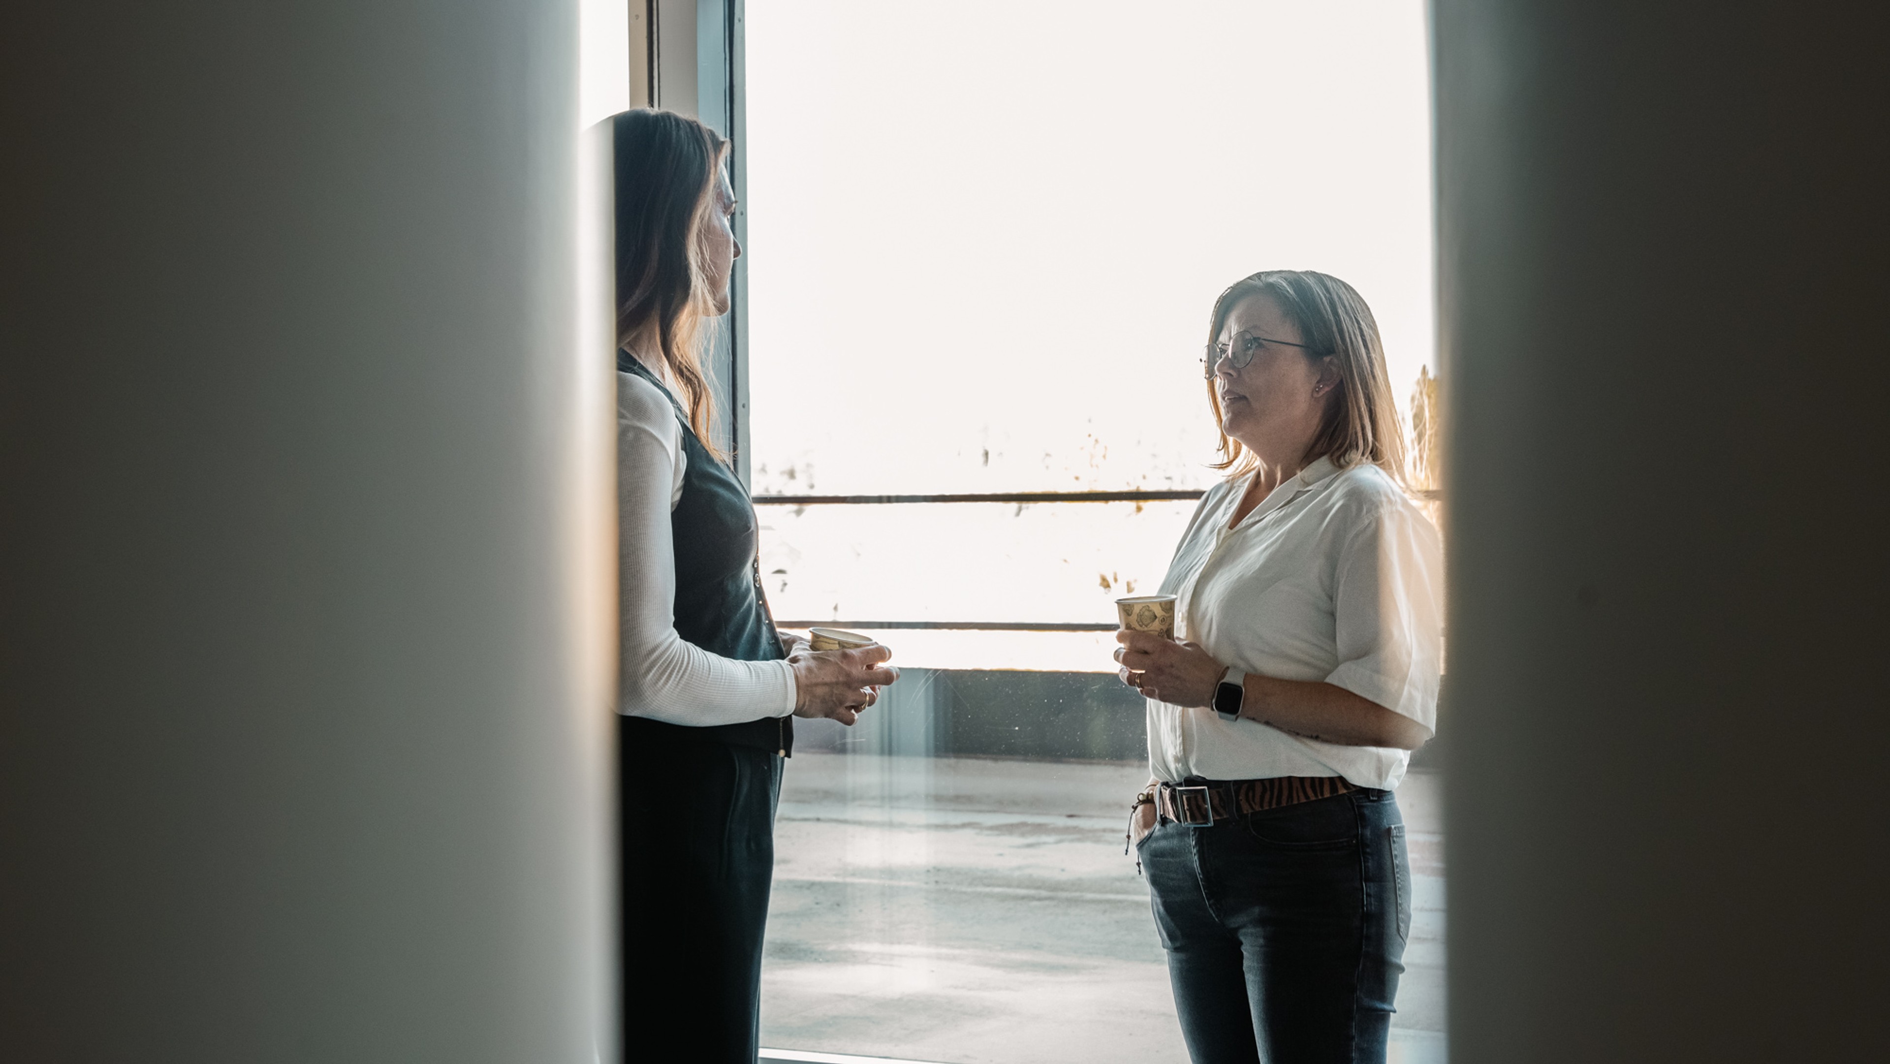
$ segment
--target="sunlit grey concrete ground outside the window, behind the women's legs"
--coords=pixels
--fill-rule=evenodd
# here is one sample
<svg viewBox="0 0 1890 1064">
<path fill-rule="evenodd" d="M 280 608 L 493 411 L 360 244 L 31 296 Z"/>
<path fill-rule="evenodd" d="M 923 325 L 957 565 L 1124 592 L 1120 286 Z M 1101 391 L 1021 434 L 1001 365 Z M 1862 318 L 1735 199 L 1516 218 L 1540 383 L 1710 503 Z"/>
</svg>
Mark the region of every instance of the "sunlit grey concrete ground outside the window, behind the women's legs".
<svg viewBox="0 0 1890 1064">
<path fill-rule="evenodd" d="M 796 754 L 762 1045 L 949 1064 L 1185 1064 L 1143 881 L 1142 764 Z M 1412 941 L 1393 1064 L 1444 1060 L 1436 777 L 1399 788 Z"/>
</svg>

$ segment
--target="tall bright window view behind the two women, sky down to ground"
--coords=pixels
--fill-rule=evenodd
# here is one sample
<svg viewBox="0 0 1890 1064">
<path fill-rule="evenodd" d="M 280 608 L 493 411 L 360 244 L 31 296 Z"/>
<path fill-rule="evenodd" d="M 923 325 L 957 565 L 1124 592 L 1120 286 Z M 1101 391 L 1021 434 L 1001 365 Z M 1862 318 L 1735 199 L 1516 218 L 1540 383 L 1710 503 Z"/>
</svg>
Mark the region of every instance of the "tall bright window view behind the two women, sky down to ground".
<svg viewBox="0 0 1890 1064">
<path fill-rule="evenodd" d="M 1123 856 L 1147 762 L 1111 603 L 1219 476 L 1223 287 L 1346 278 L 1399 391 L 1429 376 L 1423 4 L 750 2 L 745 76 L 767 592 L 905 667 L 786 773 L 762 1043 L 1185 1060 Z M 1400 788 L 1393 1060 L 1442 1058 L 1433 796 Z"/>
</svg>

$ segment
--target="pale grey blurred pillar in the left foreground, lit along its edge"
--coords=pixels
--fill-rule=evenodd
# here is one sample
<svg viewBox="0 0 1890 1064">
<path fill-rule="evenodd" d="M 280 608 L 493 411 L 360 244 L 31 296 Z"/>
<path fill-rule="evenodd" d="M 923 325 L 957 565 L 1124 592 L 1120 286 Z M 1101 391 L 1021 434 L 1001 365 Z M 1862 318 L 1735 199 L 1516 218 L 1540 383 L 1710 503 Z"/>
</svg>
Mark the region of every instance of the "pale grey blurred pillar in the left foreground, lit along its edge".
<svg viewBox="0 0 1890 1064">
<path fill-rule="evenodd" d="M 571 0 L 8 15 L 0 1058 L 616 1056 L 575 57 Z"/>
</svg>

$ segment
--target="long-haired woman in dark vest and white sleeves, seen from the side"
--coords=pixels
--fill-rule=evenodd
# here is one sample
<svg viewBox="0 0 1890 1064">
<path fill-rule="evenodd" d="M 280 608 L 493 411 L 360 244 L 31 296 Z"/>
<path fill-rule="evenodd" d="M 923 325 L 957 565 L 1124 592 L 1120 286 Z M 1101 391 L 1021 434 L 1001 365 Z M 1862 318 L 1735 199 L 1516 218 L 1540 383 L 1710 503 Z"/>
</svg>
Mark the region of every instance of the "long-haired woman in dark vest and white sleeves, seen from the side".
<svg viewBox="0 0 1890 1064">
<path fill-rule="evenodd" d="M 792 716 L 852 724 L 898 673 L 885 646 L 813 652 L 767 612 L 701 369 L 741 255 L 728 142 L 654 110 L 614 115 L 610 142 L 624 1039 L 752 1064 Z"/>
</svg>

